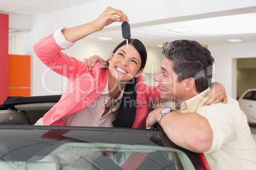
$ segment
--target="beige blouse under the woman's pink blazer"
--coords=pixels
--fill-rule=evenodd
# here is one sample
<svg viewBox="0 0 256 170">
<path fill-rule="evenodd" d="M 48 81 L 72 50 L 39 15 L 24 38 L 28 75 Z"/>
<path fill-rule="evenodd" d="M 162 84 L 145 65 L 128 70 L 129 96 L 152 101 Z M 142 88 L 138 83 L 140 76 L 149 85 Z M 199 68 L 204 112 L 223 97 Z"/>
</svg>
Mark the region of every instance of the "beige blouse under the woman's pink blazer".
<svg viewBox="0 0 256 170">
<path fill-rule="evenodd" d="M 114 101 L 122 99 L 124 94 L 124 88 L 121 90 L 117 99 Z M 117 105 L 114 104 L 110 108 L 110 111 L 103 115 L 106 103 L 110 100 L 108 91 L 108 80 L 106 86 L 101 93 L 101 96 L 97 100 L 92 101 L 90 105 L 75 114 L 66 117 L 66 126 L 102 126 L 102 127 L 113 127 L 112 122 L 115 121 L 117 110 Z M 84 102 L 89 102 L 89 100 L 84 99 Z M 115 113 L 115 114 L 114 114 Z"/>
</svg>

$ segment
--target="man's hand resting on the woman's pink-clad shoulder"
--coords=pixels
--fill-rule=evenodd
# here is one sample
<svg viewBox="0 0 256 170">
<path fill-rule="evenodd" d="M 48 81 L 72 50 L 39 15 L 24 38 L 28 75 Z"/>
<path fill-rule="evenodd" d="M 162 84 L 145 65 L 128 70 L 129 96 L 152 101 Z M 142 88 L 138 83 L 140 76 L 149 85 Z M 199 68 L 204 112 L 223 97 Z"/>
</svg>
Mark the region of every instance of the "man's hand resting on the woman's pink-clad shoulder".
<svg viewBox="0 0 256 170">
<path fill-rule="evenodd" d="M 85 58 L 83 59 L 83 62 L 87 65 L 88 69 L 91 71 L 92 68 L 96 63 L 99 63 L 101 65 L 101 69 L 107 69 L 108 68 L 108 62 L 103 60 L 103 58 L 94 55 L 90 56 L 89 59 Z"/>
</svg>

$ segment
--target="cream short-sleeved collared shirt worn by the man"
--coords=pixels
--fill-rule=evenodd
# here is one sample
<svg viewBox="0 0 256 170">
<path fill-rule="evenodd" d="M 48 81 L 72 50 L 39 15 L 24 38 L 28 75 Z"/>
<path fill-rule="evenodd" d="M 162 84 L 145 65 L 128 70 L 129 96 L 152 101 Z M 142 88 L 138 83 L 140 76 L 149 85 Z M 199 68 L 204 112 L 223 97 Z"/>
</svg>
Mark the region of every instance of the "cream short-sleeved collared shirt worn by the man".
<svg viewBox="0 0 256 170">
<path fill-rule="evenodd" d="M 255 142 L 238 101 L 228 96 L 227 104 L 203 107 L 209 91 L 184 101 L 177 111 L 196 112 L 210 122 L 213 144 L 204 155 L 211 169 L 256 169 Z"/>
</svg>

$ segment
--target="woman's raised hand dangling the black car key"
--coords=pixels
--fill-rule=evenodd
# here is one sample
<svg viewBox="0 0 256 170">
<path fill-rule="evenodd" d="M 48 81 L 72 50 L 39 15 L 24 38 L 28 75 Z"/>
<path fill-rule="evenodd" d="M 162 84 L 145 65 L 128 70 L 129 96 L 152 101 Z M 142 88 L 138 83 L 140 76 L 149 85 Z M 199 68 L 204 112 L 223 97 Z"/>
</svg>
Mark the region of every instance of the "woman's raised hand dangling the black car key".
<svg viewBox="0 0 256 170">
<path fill-rule="evenodd" d="M 113 22 L 129 22 L 128 17 L 121 11 L 111 8 L 110 6 L 106 8 L 99 17 L 94 20 L 94 28 L 97 31 L 103 30 L 104 27 L 110 25 Z"/>
</svg>

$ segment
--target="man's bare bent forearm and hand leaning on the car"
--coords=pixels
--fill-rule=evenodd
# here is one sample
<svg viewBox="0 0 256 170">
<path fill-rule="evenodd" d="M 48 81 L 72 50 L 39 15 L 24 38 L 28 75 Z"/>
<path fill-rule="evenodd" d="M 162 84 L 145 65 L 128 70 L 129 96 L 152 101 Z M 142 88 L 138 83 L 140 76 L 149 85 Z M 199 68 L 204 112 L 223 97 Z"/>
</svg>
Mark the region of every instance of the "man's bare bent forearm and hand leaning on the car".
<svg viewBox="0 0 256 170">
<path fill-rule="evenodd" d="M 147 128 L 157 123 L 162 109 L 157 108 L 148 115 Z M 213 143 L 213 131 L 208 120 L 197 113 L 173 111 L 162 117 L 160 126 L 173 143 L 192 152 L 206 152 Z"/>
</svg>

